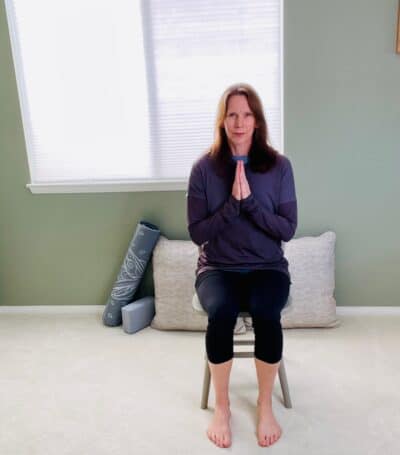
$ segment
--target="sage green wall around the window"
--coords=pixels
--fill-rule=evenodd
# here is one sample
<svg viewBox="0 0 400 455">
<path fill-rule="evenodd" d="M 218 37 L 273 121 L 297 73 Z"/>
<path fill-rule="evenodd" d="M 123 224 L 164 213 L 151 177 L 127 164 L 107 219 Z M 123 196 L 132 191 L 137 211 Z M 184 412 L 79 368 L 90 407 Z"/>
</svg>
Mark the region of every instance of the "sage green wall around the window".
<svg viewBox="0 0 400 455">
<path fill-rule="evenodd" d="M 338 305 L 398 305 L 397 0 L 285 0 L 296 237 L 337 234 Z M 267 106 L 266 106 L 267 107 Z M 212 127 L 212 125 L 210 125 Z M 103 304 L 140 219 L 187 239 L 185 192 L 33 195 L 0 2 L 0 304 Z M 139 296 L 152 291 L 148 269 Z"/>
</svg>

